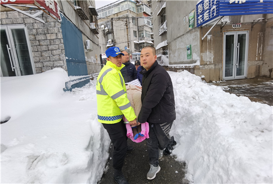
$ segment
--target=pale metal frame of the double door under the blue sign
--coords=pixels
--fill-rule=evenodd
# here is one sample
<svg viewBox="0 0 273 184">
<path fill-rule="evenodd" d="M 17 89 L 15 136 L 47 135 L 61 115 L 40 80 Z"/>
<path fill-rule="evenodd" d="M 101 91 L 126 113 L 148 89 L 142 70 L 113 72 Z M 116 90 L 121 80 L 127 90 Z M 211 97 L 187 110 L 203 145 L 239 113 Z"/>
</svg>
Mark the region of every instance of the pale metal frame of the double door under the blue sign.
<svg viewBox="0 0 273 184">
<path fill-rule="evenodd" d="M 238 61 L 238 34 L 246 34 L 246 47 L 245 47 L 245 68 L 244 68 L 244 75 L 236 76 L 236 62 Z M 232 69 L 232 76 L 225 77 L 225 44 L 226 44 L 226 35 L 234 35 L 233 41 L 233 69 Z M 249 31 L 228 31 L 224 32 L 224 40 L 223 40 L 223 80 L 234 80 L 234 79 L 242 79 L 247 77 L 247 63 L 248 63 L 248 38 L 249 38 Z M 235 46 L 235 47 L 234 47 Z"/>
</svg>

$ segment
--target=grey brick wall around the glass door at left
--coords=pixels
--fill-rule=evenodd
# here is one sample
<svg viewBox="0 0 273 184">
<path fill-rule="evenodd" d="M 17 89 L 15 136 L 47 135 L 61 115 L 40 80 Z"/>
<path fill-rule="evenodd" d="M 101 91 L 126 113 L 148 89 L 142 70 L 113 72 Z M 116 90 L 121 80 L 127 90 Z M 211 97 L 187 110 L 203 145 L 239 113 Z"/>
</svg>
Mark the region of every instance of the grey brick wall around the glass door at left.
<svg viewBox="0 0 273 184">
<path fill-rule="evenodd" d="M 38 11 L 26 11 L 35 14 Z M 67 71 L 65 47 L 61 23 L 46 14 L 38 17 L 45 23 L 39 22 L 17 11 L 1 12 L 1 25 L 25 24 L 31 45 L 36 73 L 62 67 Z"/>
</svg>

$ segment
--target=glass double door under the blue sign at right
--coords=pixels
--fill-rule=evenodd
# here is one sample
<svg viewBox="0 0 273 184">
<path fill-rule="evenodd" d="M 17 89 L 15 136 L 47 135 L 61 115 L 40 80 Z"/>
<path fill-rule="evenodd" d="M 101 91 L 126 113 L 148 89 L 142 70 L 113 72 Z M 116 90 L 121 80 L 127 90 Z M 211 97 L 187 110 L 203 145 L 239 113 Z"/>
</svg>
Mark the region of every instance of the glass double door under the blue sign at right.
<svg viewBox="0 0 273 184">
<path fill-rule="evenodd" d="M 223 79 L 246 78 L 248 31 L 224 33 Z"/>
</svg>

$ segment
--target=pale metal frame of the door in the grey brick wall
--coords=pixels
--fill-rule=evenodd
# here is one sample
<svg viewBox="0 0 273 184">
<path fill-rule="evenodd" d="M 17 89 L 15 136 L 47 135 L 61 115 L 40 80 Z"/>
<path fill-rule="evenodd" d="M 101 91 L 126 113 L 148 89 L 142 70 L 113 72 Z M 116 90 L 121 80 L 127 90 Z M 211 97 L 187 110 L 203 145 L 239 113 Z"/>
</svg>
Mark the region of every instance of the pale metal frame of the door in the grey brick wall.
<svg viewBox="0 0 273 184">
<path fill-rule="evenodd" d="M 24 24 L 0 25 L 0 29 L 5 29 L 5 31 L 6 31 L 7 40 L 8 40 L 8 44 L 9 44 L 8 47 L 10 48 L 10 50 L 9 50 L 10 57 L 11 57 L 10 59 L 12 60 L 13 67 L 15 69 L 15 74 L 16 74 L 16 76 L 21 76 L 20 67 L 19 67 L 20 65 L 17 60 L 17 55 L 16 55 L 16 51 L 15 51 L 15 47 L 14 47 L 14 41 L 13 41 L 11 29 L 18 29 L 18 28 L 24 28 L 28 52 L 29 52 L 30 63 L 32 66 L 32 71 L 33 71 L 33 74 L 36 74 L 35 65 L 34 65 L 33 56 L 32 56 L 31 45 L 30 45 L 28 31 L 27 31 L 26 26 Z M 0 76 L 2 76 L 2 69 L 0 69 Z"/>
</svg>

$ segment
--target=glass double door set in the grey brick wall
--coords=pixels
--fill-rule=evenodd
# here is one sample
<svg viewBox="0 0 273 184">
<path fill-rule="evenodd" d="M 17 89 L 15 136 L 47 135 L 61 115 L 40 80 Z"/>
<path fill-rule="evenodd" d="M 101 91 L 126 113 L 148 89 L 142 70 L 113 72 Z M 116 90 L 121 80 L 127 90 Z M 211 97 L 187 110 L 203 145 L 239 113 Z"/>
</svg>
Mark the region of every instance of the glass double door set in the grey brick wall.
<svg viewBox="0 0 273 184">
<path fill-rule="evenodd" d="M 1 76 L 35 73 L 27 29 L 24 25 L 1 26 Z"/>
</svg>

